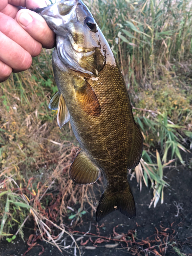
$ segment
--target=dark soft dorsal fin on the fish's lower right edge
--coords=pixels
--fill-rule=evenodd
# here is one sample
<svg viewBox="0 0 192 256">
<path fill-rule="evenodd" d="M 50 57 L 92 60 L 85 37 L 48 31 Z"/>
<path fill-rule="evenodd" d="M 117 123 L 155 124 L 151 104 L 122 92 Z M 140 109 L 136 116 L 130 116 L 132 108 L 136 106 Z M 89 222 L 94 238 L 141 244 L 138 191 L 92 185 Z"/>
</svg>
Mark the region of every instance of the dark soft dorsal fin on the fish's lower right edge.
<svg viewBox="0 0 192 256">
<path fill-rule="evenodd" d="M 133 130 L 132 147 L 128 156 L 127 168 L 133 169 L 139 164 L 142 156 L 142 152 L 143 152 L 143 136 L 137 124 L 135 123 L 135 127 Z"/>
</svg>

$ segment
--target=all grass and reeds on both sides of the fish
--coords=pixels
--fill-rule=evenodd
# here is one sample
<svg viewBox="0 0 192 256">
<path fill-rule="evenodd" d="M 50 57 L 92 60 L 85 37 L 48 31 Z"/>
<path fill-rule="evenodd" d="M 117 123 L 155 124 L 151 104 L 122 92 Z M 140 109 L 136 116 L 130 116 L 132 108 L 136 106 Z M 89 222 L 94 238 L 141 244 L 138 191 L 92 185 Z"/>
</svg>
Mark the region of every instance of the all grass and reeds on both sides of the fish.
<svg viewBox="0 0 192 256">
<path fill-rule="evenodd" d="M 169 186 L 164 168 L 186 165 L 192 147 L 191 1 L 85 2 L 117 58 L 144 137 L 141 162 L 129 172 L 140 190 L 142 180 L 153 189 L 155 207 Z M 9 242 L 24 236 L 31 219 L 55 243 L 50 228 L 67 232 L 67 221 L 83 221 L 85 205 L 93 215 L 102 190 L 101 179 L 94 186 L 69 179 L 78 142 L 70 123 L 60 130 L 57 112 L 48 108 L 57 92 L 51 55 L 42 50 L 29 70 L 0 87 L 0 238 Z"/>
</svg>

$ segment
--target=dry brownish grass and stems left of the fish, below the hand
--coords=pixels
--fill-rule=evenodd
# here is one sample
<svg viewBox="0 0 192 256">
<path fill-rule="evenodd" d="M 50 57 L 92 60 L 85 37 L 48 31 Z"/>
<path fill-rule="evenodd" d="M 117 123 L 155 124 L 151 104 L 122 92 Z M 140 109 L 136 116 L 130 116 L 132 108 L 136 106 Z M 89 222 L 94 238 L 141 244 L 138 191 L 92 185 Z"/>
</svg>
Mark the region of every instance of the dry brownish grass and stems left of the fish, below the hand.
<svg viewBox="0 0 192 256">
<path fill-rule="evenodd" d="M 42 67 L 36 69 L 38 62 Z M 44 66 L 52 71 L 51 55 L 45 51 L 31 70 L 1 84 L 0 237 L 11 235 L 17 226 L 22 234 L 21 226 L 29 215 L 37 225 L 37 220 L 46 218 L 63 228 L 65 218 L 74 214 L 73 205 L 79 207 L 71 218 L 73 224 L 81 219 L 86 202 L 92 216 L 96 210 L 93 186 L 78 186 L 69 178 L 78 142 L 70 124 L 60 130 L 56 112 L 48 109 L 55 86 Z"/>
</svg>

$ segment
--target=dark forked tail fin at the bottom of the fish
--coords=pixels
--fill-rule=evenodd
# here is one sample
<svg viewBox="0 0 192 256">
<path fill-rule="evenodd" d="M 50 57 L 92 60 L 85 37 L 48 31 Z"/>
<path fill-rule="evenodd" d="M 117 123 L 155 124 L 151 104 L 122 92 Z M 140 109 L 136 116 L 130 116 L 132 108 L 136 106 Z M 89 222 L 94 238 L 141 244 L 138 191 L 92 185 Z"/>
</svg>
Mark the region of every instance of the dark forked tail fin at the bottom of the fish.
<svg viewBox="0 0 192 256">
<path fill-rule="evenodd" d="M 114 210 L 119 210 L 123 215 L 133 219 L 136 216 L 135 201 L 129 183 L 123 191 L 111 193 L 109 188 L 103 191 L 96 212 L 96 221 L 99 222 Z"/>
</svg>

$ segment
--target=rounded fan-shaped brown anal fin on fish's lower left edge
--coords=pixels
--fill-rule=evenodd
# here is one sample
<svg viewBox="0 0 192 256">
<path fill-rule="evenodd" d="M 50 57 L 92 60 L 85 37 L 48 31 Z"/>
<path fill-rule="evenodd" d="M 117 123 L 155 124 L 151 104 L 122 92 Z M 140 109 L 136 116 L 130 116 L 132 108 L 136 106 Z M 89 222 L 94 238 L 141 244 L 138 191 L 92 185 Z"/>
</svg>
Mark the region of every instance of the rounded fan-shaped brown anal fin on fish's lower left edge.
<svg viewBox="0 0 192 256">
<path fill-rule="evenodd" d="M 76 184 L 93 184 L 100 177 L 100 170 L 80 149 L 70 167 L 69 174 Z"/>
</svg>

